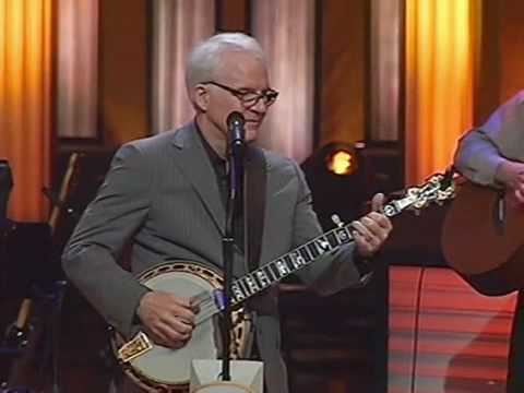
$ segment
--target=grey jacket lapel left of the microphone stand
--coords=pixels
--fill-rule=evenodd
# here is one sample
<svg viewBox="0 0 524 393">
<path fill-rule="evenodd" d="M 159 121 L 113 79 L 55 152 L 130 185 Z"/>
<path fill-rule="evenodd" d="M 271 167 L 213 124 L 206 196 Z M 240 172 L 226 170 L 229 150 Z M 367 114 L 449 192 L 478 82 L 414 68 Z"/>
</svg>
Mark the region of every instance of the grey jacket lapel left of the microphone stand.
<svg viewBox="0 0 524 393">
<path fill-rule="evenodd" d="M 215 171 L 194 123 L 187 124 L 177 131 L 171 142 L 176 147 L 176 164 L 192 184 L 218 231 L 224 234 L 226 213 L 216 183 Z"/>
</svg>

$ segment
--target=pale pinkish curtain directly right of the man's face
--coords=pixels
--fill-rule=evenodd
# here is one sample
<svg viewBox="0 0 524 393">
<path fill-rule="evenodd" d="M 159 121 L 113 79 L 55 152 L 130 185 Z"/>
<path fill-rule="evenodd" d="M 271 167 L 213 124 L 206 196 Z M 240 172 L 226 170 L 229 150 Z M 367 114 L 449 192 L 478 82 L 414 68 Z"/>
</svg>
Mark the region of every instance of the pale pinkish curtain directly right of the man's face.
<svg viewBox="0 0 524 393">
<path fill-rule="evenodd" d="M 314 1 L 254 1 L 252 26 L 269 57 L 271 84 L 281 92 L 260 143 L 301 162 L 313 147 Z"/>
</svg>

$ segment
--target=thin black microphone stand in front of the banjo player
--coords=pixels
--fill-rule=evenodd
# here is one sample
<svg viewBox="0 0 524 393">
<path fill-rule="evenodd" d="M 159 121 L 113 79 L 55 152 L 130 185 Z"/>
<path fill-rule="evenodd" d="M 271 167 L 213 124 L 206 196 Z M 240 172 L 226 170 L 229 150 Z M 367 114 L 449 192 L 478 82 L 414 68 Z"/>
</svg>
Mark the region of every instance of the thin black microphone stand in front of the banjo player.
<svg viewBox="0 0 524 393">
<path fill-rule="evenodd" d="M 226 201 L 226 225 L 223 238 L 224 258 L 224 311 L 223 311 L 223 358 L 222 380 L 230 381 L 230 342 L 231 342 L 231 284 L 233 284 L 233 257 L 235 243 L 235 217 L 238 214 L 240 190 L 243 187 L 243 143 L 234 143 L 228 148 L 228 183 L 229 195 Z"/>
</svg>

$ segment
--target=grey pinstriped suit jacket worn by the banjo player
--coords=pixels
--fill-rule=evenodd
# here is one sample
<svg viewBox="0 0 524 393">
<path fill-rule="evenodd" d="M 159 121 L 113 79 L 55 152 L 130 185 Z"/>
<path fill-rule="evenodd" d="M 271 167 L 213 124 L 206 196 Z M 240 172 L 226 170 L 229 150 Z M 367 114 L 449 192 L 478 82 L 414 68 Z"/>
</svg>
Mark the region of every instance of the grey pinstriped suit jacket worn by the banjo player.
<svg viewBox="0 0 524 393">
<path fill-rule="evenodd" d="M 320 235 L 311 195 L 298 165 L 264 152 L 267 165 L 266 212 L 261 262 L 269 262 Z M 123 145 L 106 180 L 85 210 L 62 255 L 74 285 L 107 322 L 126 336 L 146 288 L 133 275 L 174 259 L 222 266 L 225 212 L 215 174 L 193 123 Z M 118 261 L 132 241 L 132 272 Z M 353 245 L 323 257 L 300 272 L 322 294 L 359 282 Z M 245 272 L 235 253 L 235 274 Z M 267 314 L 257 319 L 257 343 L 270 393 L 287 392 L 279 353 L 277 291 L 270 291 Z"/>
</svg>

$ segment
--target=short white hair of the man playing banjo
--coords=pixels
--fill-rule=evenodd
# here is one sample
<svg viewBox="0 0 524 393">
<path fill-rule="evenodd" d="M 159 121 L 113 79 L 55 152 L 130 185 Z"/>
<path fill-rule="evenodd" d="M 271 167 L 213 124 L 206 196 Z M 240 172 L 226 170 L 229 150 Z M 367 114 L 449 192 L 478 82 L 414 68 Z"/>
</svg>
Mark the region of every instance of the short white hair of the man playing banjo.
<svg viewBox="0 0 524 393">
<path fill-rule="evenodd" d="M 191 91 L 194 85 L 212 81 L 228 51 L 249 51 L 265 62 L 265 55 L 253 37 L 243 33 L 221 33 L 196 45 L 186 64 L 186 86 Z"/>
</svg>

